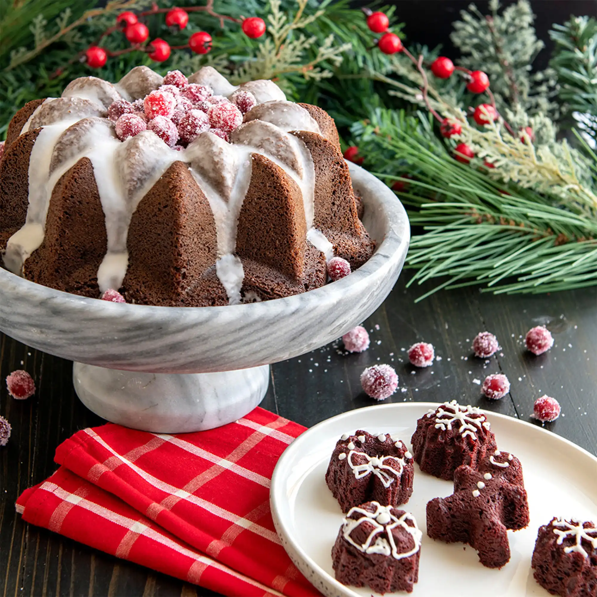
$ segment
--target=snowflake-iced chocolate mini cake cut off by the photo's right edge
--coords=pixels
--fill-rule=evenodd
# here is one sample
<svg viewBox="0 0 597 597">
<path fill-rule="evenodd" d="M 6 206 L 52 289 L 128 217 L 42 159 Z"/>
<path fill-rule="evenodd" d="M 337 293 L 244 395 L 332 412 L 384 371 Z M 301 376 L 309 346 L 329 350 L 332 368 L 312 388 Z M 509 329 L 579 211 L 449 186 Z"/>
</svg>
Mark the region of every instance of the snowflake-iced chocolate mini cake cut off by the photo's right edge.
<svg viewBox="0 0 597 597">
<path fill-rule="evenodd" d="M 553 518 L 539 527 L 533 576 L 552 595 L 597 595 L 597 528 L 575 518 Z"/>
</svg>

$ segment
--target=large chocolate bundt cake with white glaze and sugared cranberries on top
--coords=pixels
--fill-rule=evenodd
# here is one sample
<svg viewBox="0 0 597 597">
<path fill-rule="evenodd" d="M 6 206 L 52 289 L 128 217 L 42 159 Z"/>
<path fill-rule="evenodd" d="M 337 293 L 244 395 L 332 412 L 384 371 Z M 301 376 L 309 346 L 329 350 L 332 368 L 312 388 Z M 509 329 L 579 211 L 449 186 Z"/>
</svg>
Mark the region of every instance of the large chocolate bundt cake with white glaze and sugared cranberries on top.
<svg viewBox="0 0 597 597">
<path fill-rule="evenodd" d="M 235 87 L 146 66 L 27 103 L 0 160 L 0 249 L 13 273 L 129 303 L 213 306 L 303 293 L 374 241 L 333 119 L 272 81 Z"/>
</svg>

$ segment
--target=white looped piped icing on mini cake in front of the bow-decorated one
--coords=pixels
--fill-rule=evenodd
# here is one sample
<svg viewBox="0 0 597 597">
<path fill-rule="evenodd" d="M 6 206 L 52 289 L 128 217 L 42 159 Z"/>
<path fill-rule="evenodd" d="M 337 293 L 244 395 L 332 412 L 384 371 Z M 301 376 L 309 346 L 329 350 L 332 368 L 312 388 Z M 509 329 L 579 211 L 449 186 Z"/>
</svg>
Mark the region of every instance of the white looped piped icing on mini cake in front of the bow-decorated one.
<svg viewBox="0 0 597 597">
<path fill-rule="evenodd" d="M 377 501 L 372 501 L 371 503 L 376 506 L 375 512 L 369 512 L 369 510 L 365 510 L 359 506 L 355 506 L 349 510 L 344 519 L 344 538 L 363 553 L 381 553 L 384 556 L 391 555 L 394 559 L 410 558 L 410 556 L 417 553 L 421 547 L 423 533 L 417 527 L 417 521 L 414 519 L 414 516 L 405 512 L 400 518 L 397 518 L 391 512 L 392 506 L 381 506 Z M 350 518 L 350 515 L 355 512 L 363 516 L 358 519 Z M 350 533 L 364 521 L 373 525 L 373 531 L 371 531 L 365 543 L 356 543 L 350 537 Z M 411 521 L 414 527 L 411 527 L 406 521 Z M 396 527 L 402 527 L 410 533 L 414 542 L 413 549 L 404 553 L 398 552 L 392 535 L 392 530 Z M 375 542 L 373 543 L 374 539 Z"/>
</svg>

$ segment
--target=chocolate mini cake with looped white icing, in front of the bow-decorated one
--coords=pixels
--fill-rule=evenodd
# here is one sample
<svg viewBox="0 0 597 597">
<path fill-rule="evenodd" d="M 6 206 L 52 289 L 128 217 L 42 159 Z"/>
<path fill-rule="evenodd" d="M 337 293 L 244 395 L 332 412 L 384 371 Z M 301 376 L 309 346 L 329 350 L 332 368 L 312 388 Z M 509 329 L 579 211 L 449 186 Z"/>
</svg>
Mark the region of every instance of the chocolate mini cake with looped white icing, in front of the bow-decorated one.
<svg viewBox="0 0 597 597">
<path fill-rule="evenodd" d="M 349 510 L 332 548 L 336 580 L 378 593 L 413 591 L 422 533 L 414 516 L 369 501 Z"/>
</svg>

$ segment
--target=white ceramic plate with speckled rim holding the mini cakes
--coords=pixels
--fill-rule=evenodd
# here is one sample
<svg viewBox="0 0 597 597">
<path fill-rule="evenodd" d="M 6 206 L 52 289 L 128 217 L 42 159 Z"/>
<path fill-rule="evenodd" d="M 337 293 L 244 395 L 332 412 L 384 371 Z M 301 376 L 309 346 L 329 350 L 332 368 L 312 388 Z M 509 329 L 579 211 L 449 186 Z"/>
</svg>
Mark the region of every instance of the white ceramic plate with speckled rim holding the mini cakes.
<svg viewBox="0 0 597 597">
<path fill-rule="evenodd" d="M 324 478 L 334 445 L 343 433 L 365 429 L 371 433 L 397 433 L 410 447 L 417 419 L 436 407 L 431 402 L 411 402 L 340 414 L 304 432 L 276 464 L 270 493 L 276 530 L 300 571 L 325 595 L 371 595 L 367 587 L 344 586 L 334 578 L 331 549 L 343 514 Z M 498 447 L 521 460 L 531 522 L 521 531 L 508 532 L 510 562 L 501 570 L 485 568 L 472 547 L 427 537 L 427 501 L 449 496 L 453 483 L 422 473 L 415 464 L 413 496 L 404 509 L 416 517 L 423 543 L 419 580 L 411 595 L 547 596 L 549 593 L 534 581 L 531 570 L 538 528 L 556 515 L 597 521 L 597 458 L 536 425 L 494 413 L 487 413 L 487 417 Z"/>
</svg>

